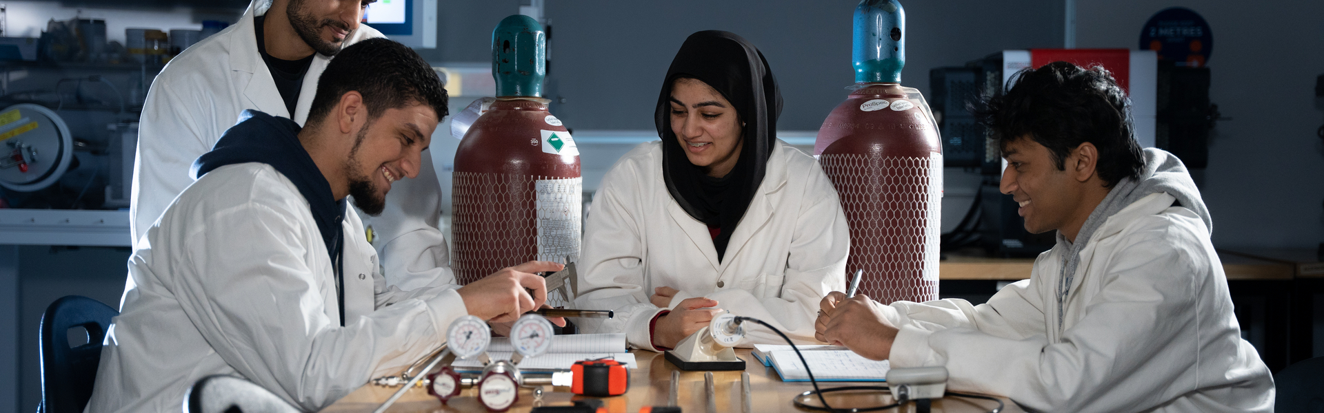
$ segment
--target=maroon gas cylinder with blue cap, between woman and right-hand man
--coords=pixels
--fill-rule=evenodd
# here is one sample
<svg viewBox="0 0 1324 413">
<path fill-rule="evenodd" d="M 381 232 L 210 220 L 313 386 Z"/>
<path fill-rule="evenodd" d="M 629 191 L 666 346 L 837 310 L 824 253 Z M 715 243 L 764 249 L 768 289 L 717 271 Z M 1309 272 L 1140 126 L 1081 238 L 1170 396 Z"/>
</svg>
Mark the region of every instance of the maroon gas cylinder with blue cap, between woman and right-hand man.
<svg viewBox="0 0 1324 413">
<path fill-rule="evenodd" d="M 814 155 L 850 226 L 847 274 L 882 303 L 937 299 L 943 147 L 928 103 L 900 85 L 906 12 L 896 0 L 855 8 L 855 85 L 828 115 Z"/>
</svg>

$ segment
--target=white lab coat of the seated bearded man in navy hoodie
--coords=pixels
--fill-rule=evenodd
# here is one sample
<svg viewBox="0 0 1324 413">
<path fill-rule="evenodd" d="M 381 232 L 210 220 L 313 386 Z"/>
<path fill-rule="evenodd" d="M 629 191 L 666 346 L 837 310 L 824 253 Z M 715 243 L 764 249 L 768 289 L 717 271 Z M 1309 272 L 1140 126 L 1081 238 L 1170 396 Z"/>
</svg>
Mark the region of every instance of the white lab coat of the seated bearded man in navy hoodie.
<svg viewBox="0 0 1324 413">
<path fill-rule="evenodd" d="M 346 322 L 307 200 L 261 163 L 199 179 L 128 262 L 86 412 L 179 412 L 209 375 L 238 375 L 305 410 L 396 375 L 467 314 L 448 287 L 387 286 L 355 213 L 344 217 Z"/>
</svg>

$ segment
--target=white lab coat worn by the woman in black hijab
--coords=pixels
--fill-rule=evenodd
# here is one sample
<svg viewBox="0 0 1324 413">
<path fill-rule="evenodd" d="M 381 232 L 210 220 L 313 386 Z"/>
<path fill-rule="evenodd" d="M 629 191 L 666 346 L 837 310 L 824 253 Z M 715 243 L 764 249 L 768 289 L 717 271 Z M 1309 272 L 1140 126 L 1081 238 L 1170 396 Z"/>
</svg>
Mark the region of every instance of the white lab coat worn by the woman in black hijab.
<svg viewBox="0 0 1324 413">
<path fill-rule="evenodd" d="M 662 310 L 653 287 L 681 290 L 669 307 L 694 297 L 736 315 L 814 340 L 818 302 L 846 285 L 850 232 L 837 191 L 818 161 L 777 140 L 767 175 L 741 217 L 724 259 L 708 226 L 671 199 L 662 180 L 662 143 L 625 154 L 593 197 L 579 267 L 579 308 L 614 310 L 613 319 L 577 319 L 587 332 L 626 332 L 636 348 L 653 347 L 649 324 Z M 744 345 L 785 344 L 763 327 Z"/>
</svg>

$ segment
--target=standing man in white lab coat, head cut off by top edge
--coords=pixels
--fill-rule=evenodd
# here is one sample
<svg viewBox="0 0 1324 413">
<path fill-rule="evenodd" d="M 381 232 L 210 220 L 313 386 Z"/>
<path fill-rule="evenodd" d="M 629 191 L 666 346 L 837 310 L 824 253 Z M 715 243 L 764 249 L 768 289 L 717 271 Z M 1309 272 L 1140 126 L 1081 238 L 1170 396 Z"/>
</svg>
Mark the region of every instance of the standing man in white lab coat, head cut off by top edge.
<svg viewBox="0 0 1324 413">
<path fill-rule="evenodd" d="M 238 23 L 171 60 L 152 82 L 139 122 L 130 220 L 134 241 L 193 183 L 189 165 L 245 110 L 305 124 L 316 81 L 342 48 L 380 32 L 361 25 L 376 0 L 253 0 Z M 387 283 L 405 290 L 454 283 L 437 228 L 441 188 L 424 151 L 418 179 L 395 184 L 376 234 Z M 361 237 L 361 236 L 360 236 Z"/>
</svg>

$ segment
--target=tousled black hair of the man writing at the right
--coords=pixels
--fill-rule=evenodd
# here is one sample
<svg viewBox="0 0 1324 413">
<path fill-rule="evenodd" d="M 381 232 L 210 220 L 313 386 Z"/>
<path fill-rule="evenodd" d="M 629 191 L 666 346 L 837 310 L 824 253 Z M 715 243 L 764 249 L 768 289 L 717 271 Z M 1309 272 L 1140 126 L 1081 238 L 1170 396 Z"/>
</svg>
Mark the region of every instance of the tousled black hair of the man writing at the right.
<svg viewBox="0 0 1324 413">
<path fill-rule="evenodd" d="M 1095 172 L 1106 187 L 1140 176 L 1144 161 L 1133 136 L 1131 101 L 1112 73 L 1058 61 L 1023 69 L 1013 81 L 1006 94 L 985 97 L 974 109 L 1000 148 L 1030 136 L 1049 148 L 1062 171 L 1071 150 L 1088 142 L 1099 148 Z"/>
</svg>

